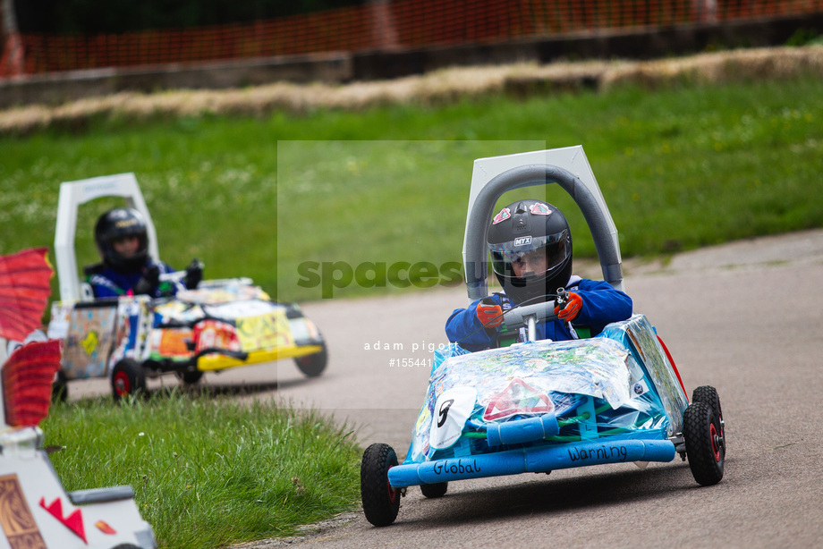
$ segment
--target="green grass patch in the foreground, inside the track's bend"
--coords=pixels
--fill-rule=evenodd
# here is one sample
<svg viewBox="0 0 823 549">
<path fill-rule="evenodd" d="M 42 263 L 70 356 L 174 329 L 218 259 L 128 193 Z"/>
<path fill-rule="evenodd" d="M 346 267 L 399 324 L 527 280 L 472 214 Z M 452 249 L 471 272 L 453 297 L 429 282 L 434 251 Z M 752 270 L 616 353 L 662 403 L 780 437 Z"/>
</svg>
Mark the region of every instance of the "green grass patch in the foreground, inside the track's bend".
<svg viewBox="0 0 823 549">
<path fill-rule="evenodd" d="M 160 547 L 287 536 L 360 499 L 351 433 L 306 410 L 172 393 L 59 405 L 41 427 L 66 489 L 132 486 Z"/>
</svg>

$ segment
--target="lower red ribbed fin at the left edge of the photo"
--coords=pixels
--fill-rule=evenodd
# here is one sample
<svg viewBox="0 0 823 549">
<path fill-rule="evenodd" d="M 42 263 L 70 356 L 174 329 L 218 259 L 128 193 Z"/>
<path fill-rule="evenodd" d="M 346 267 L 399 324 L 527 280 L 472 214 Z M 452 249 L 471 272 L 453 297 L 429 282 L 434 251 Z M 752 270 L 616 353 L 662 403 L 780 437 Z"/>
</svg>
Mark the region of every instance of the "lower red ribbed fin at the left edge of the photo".
<svg viewBox="0 0 823 549">
<path fill-rule="evenodd" d="M 34 427 L 48 414 L 52 382 L 60 369 L 63 342 L 30 342 L 19 347 L 3 365 L 5 422 Z"/>
</svg>

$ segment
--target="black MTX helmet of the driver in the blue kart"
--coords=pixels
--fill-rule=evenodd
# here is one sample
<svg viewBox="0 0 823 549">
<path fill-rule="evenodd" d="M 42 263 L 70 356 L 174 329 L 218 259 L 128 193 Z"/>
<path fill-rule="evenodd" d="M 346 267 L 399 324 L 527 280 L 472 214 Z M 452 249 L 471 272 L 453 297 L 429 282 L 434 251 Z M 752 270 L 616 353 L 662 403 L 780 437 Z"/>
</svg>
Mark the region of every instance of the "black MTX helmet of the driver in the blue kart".
<svg viewBox="0 0 823 549">
<path fill-rule="evenodd" d="M 563 212 L 541 200 L 521 200 L 495 215 L 486 235 L 491 265 L 515 303 L 554 294 L 572 275 L 572 232 Z M 513 262 L 545 252 L 546 270 L 517 276 Z"/>
</svg>

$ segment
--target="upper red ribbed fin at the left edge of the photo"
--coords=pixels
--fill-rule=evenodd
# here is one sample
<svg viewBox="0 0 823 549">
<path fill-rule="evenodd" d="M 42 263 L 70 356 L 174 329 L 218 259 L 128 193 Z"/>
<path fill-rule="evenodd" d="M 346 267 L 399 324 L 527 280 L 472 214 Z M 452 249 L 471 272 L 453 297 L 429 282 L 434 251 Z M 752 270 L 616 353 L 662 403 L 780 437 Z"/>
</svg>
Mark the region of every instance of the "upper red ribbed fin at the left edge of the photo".
<svg viewBox="0 0 823 549">
<path fill-rule="evenodd" d="M 0 337 L 21 342 L 40 326 L 52 268 L 46 248 L 0 256 Z"/>
</svg>

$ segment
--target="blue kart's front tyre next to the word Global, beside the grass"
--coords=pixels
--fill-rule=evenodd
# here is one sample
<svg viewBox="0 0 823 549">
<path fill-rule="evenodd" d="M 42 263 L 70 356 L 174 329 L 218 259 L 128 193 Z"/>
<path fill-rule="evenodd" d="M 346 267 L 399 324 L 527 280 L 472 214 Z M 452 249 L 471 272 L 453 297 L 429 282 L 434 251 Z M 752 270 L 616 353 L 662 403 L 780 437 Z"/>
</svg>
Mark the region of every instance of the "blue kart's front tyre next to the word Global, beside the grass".
<svg viewBox="0 0 823 549">
<path fill-rule="evenodd" d="M 374 443 L 363 452 L 361 499 L 366 519 L 374 526 L 388 526 L 400 510 L 400 490 L 388 483 L 388 469 L 397 465 L 395 451 L 388 444 Z"/>
</svg>

